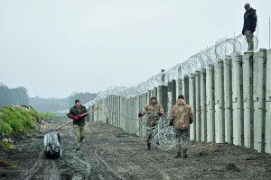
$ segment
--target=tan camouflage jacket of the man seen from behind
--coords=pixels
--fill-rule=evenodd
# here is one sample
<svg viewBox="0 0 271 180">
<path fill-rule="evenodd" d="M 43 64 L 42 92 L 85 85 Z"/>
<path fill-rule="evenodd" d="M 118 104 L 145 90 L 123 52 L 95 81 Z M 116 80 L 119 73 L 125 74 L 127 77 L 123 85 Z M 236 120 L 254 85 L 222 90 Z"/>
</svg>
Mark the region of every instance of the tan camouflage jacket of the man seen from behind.
<svg viewBox="0 0 271 180">
<path fill-rule="evenodd" d="M 193 113 L 191 107 L 183 99 L 177 100 L 170 112 L 170 123 L 175 129 L 185 130 L 193 122 Z"/>
</svg>

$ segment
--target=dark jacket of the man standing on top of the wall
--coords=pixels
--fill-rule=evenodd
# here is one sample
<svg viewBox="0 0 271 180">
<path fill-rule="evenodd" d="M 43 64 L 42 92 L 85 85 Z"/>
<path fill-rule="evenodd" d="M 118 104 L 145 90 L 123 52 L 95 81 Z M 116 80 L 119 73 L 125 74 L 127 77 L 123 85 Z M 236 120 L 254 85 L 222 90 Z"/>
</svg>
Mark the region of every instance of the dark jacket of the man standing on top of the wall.
<svg viewBox="0 0 271 180">
<path fill-rule="evenodd" d="M 254 32 L 257 25 L 257 14 L 256 10 L 250 8 L 245 14 L 244 14 L 244 26 L 243 31 L 252 31 Z"/>
</svg>

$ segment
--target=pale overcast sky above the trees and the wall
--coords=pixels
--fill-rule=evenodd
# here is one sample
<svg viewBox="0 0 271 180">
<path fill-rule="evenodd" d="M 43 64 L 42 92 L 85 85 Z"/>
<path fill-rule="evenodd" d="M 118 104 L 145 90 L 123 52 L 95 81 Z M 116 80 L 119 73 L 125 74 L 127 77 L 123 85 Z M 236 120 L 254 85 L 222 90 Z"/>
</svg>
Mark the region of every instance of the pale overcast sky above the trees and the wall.
<svg viewBox="0 0 271 180">
<path fill-rule="evenodd" d="M 47 98 L 136 85 L 240 34 L 245 3 L 268 48 L 270 0 L 0 0 L 0 82 Z"/>
</svg>

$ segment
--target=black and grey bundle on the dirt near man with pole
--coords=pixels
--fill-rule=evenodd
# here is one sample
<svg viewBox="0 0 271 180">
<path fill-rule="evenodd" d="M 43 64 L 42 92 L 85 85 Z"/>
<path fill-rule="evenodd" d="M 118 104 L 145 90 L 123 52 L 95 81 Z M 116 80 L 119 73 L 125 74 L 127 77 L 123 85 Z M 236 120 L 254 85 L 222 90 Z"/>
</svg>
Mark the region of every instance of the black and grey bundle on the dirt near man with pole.
<svg viewBox="0 0 271 180">
<path fill-rule="evenodd" d="M 62 156 L 61 136 L 59 132 L 51 130 L 44 135 L 44 155 L 46 158 L 60 158 Z"/>
</svg>

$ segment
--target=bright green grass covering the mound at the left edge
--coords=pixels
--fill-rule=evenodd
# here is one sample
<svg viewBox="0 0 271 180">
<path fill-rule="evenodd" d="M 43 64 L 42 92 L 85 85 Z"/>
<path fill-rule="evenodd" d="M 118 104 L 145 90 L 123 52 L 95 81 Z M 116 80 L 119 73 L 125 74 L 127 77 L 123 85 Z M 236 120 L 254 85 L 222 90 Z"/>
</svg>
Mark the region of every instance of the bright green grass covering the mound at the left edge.
<svg viewBox="0 0 271 180">
<path fill-rule="evenodd" d="M 35 129 L 34 123 L 41 122 L 42 119 L 42 113 L 33 108 L 4 106 L 0 108 L 0 132 L 4 133 L 5 136 L 23 131 L 32 134 Z"/>
</svg>

